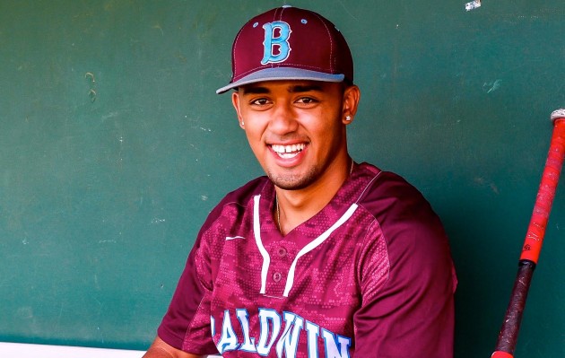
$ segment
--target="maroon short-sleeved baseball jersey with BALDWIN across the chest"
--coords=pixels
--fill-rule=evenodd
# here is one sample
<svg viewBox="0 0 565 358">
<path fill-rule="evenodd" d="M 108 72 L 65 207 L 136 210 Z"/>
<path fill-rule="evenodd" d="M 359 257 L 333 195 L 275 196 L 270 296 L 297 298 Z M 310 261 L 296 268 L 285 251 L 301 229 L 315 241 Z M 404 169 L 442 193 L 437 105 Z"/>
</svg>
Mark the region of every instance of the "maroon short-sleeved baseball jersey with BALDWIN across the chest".
<svg viewBox="0 0 565 358">
<path fill-rule="evenodd" d="M 420 192 L 363 163 L 282 236 L 265 177 L 230 193 L 188 256 L 158 335 L 225 357 L 453 357 L 456 275 Z"/>
</svg>

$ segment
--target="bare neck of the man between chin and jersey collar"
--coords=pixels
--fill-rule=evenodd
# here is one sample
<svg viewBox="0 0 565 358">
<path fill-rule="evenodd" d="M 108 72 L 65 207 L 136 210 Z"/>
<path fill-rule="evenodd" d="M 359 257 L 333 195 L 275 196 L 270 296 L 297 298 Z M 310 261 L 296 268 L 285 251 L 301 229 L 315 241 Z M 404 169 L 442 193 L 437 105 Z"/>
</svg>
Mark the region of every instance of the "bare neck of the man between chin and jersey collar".
<svg viewBox="0 0 565 358">
<path fill-rule="evenodd" d="M 330 171 L 331 175 L 326 175 L 328 178 L 322 177 L 308 188 L 285 190 L 275 187 L 274 220 L 283 235 L 319 213 L 332 200 L 351 174 L 353 160 L 349 156 L 347 159 L 340 172 Z"/>
</svg>

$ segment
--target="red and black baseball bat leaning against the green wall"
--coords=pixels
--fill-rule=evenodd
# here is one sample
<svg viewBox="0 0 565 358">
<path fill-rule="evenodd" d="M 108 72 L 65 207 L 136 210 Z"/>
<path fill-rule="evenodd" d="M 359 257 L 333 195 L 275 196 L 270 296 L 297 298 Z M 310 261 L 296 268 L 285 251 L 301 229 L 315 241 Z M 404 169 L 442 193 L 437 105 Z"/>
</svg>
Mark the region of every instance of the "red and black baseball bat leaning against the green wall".
<svg viewBox="0 0 565 358">
<path fill-rule="evenodd" d="M 518 261 L 517 277 L 510 294 L 508 309 L 491 358 L 514 358 L 517 335 L 526 306 L 527 292 L 540 256 L 545 227 L 552 210 L 553 197 L 555 197 L 555 190 L 565 157 L 565 109 L 553 111 L 551 118 L 553 122 L 552 142 L 535 198 L 534 213 L 530 219 L 526 240 Z"/>
</svg>

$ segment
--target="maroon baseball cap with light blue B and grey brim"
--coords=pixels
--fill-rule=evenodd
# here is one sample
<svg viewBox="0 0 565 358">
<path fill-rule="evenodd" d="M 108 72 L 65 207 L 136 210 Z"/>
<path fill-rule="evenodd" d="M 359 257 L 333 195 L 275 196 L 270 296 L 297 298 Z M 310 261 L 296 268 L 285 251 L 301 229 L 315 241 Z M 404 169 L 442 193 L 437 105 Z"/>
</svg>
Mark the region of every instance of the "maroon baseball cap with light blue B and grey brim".
<svg viewBox="0 0 565 358">
<path fill-rule="evenodd" d="M 249 20 L 231 49 L 231 81 L 216 93 L 274 80 L 353 82 L 342 33 L 318 13 L 285 5 Z"/>
</svg>

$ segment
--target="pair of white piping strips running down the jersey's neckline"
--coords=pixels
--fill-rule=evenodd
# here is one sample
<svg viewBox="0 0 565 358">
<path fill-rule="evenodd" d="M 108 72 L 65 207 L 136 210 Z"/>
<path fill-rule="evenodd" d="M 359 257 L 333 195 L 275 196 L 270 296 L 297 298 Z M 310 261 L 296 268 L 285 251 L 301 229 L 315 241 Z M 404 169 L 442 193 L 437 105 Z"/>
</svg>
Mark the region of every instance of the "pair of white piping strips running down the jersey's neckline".
<svg viewBox="0 0 565 358">
<path fill-rule="evenodd" d="M 269 265 L 271 264 L 271 258 L 269 257 L 269 253 L 263 246 L 263 242 L 261 241 L 261 223 L 259 220 L 259 199 L 261 198 L 260 195 L 254 196 L 254 208 L 253 208 L 253 231 L 255 233 L 255 242 L 259 252 L 263 256 L 263 266 L 261 267 L 261 291 L 259 293 L 264 294 L 266 288 L 266 277 L 267 271 L 269 270 Z M 292 261 L 291 268 L 289 269 L 289 274 L 286 279 L 286 284 L 284 286 L 284 292 L 282 293 L 283 297 L 288 297 L 289 293 L 291 292 L 292 284 L 294 284 L 294 273 L 296 272 L 296 265 L 298 263 L 299 258 L 309 253 L 311 250 L 316 249 L 319 245 L 322 244 L 329 236 L 337 230 L 340 226 L 343 225 L 347 220 L 349 220 L 357 207 L 359 205 L 352 204 L 349 209 L 336 221 L 329 229 L 327 229 L 324 233 L 318 236 L 315 240 L 309 242 L 304 248 L 300 249 L 296 258 Z"/>
</svg>

